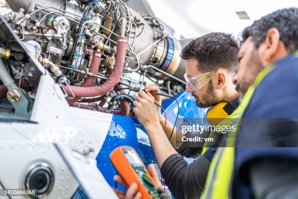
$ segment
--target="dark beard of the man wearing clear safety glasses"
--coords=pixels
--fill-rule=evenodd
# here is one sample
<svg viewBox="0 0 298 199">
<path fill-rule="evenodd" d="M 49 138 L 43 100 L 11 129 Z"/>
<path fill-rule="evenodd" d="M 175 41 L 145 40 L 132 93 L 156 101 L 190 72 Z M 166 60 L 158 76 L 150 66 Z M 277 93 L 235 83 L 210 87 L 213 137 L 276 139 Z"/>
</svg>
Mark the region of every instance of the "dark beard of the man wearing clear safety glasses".
<svg viewBox="0 0 298 199">
<path fill-rule="evenodd" d="M 208 83 L 207 92 L 204 95 L 202 95 L 202 101 L 194 93 L 192 93 L 191 95 L 198 99 L 196 100 L 196 105 L 200 108 L 206 108 L 219 102 L 218 98 L 215 96 L 212 82 Z"/>
</svg>

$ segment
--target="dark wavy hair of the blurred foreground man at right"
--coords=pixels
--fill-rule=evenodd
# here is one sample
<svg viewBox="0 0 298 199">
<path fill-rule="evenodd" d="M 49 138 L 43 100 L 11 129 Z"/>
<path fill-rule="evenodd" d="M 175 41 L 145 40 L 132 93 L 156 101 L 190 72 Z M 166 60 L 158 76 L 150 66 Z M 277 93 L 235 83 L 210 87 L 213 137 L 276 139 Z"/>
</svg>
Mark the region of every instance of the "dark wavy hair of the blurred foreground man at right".
<svg viewBox="0 0 298 199">
<path fill-rule="evenodd" d="M 298 8 L 286 8 L 270 13 L 260 20 L 255 20 L 251 26 L 246 27 L 240 40 L 244 42 L 249 36 L 259 48 L 265 40 L 267 31 L 276 28 L 279 31 L 280 40 L 289 52 L 298 48 Z"/>
</svg>

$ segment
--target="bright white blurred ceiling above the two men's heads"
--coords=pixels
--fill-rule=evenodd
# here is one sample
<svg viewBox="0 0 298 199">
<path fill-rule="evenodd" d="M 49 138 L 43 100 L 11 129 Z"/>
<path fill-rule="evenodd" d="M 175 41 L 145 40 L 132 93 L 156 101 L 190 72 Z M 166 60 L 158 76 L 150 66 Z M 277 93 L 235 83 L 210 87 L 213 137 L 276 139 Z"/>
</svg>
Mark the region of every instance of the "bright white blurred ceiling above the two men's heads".
<svg viewBox="0 0 298 199">
<path fill-rule="evenodd" d="M 148 0 L 155 16 L 184 38 L 211 31 L 237 36 L 254 20 L 280 8 L 297 7 L 298 0 Z M 241 20 L 236 12 L 245 11 L 250 20 Z"/>
</svg>

